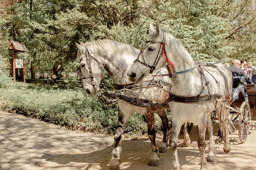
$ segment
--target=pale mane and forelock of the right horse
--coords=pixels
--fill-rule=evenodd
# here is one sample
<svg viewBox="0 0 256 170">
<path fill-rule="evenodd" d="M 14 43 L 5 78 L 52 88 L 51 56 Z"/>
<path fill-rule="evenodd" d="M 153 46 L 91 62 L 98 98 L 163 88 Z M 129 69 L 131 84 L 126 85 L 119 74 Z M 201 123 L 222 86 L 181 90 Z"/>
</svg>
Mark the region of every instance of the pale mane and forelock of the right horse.
<svg viewBox="0 0 256 170">
<path fill-rule="evenodd" d="M 170 50 L 169 52 L 172 53 L 172 57 L 181 57 L 184 64 L 194 65 L 194 60 L 182 43 L 166 30 L 161 29 L 161 31 L 166 35 L 167 45 L 170 45 L 170 49 L 166 49 L 166 51 Z M 158 41 L 156 31 L 150 33 L 149 37 L 151 37 L 152 41 Z"/>
</svg>

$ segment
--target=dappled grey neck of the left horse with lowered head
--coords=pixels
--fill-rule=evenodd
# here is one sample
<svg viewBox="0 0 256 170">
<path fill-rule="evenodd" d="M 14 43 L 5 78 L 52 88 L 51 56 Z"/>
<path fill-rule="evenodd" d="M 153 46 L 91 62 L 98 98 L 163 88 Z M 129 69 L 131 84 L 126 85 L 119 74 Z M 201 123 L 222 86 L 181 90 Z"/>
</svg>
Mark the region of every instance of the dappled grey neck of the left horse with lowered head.
<svg viewBox="0 0 256 170">
<path fill-rule="evenodd" d="M 136 56 L 126 54 L 116 47 L 112 47 L 112 49 L 95 49 L 96 53 L 98 53 L 96 56 L 100 56 L 100 61 L 104 63 L 104 68 L 112 76 L 116 84 L 132 83 L 128 76 L 126 76 L 126 73 L 132 66 Z"/>
</svg>

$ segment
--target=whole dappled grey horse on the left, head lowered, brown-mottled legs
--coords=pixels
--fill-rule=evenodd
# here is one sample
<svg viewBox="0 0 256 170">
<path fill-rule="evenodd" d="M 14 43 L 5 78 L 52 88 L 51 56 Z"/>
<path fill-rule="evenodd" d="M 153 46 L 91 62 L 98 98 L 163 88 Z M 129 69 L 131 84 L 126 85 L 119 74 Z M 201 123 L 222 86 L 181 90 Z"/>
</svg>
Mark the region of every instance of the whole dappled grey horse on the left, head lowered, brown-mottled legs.
<svg viewBox="0 0 256 170">
<path fill-rule="evenodd" d="M 167 76 L 155 76 L 144 81 L 144 86 L 134 84 L 128 80 L 126 72 L 132 66 L 134 59 L 140 52 L 134 47 L 113 40 L 96 40 L 87 43 L 76 43 L 78 48 L 78 58 L 80 59 L 81 72 L 83 76 L 83 86 L 89 96 L 94 96 L 100 88 L 100 81 L 103 72 L 106 69 L 113 77 L 116 87 L 124 88 L 134 86 L 132 90 L 126 89 L 125 95 L 141 98 L 150 101 L 163 102 L 168 98 L 170 90 L 170 79 Z M 166 68 L 160 69 L 155 74 L 168 74 Z M 154 80 L 161 80 L 154 83 Z M 151 84 L 148 84 L 151 82 Z M 154 85 L 153 85 L 154 84 Z M 115 89 L 115 90 L 120 90 Z M 159 164 L 159 152 L 166 152 L 168 143 L 168 118 L 164 108 L 133 106 L 123 100 L 118 100 L 118 125 L 114 136 L 114 145 L 112 158 L 109 163 L 110 170 L 118 170 L 120 166 L 121 136 L 124 132 L 128 119 L 134 113 L 140 113 L 145 116 L 148 125 L 148 137 L 152 143 L 152 156 L 148 164 L 157 166 Z M 164 127 L 164 137 L 159 147 L 156 147 L 156 132 L 154 125 L 154 110 L 162 119 Z M 186 128 L 184 128 L 186 130 Z M 187 132 L 184 132 L 184 145 L 190 145 L 190 138 Z"/>
</svg>

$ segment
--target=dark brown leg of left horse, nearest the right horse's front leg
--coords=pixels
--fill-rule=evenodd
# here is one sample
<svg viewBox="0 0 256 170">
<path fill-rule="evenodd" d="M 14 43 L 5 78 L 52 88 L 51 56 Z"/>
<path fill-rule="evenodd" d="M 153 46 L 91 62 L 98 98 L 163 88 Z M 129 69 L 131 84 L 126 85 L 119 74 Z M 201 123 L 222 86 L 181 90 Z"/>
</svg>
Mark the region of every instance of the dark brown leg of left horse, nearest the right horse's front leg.
<svg viewBox="0 0 256 170">
<path fill-rule="evenodd" d="M 165 109 L 159 109 L 157 111 L 159 117 L 161 118 L 162 120 L 162 124 L 163 124 L 163 127 L 164 127 L 164 137 L 163 137 L 163 141 L 162 143 L 160 144 L 160 146 L 158 147 L 158 150 L 160 153 L 163 153 L 163 152 L 166 152 L 167 151 L 167 148 L 169 147 L 169 143 L 168 143 L 168 131 L 169 131 L 169 120 L 166 116 L 166 111 Z"/>
</svg>

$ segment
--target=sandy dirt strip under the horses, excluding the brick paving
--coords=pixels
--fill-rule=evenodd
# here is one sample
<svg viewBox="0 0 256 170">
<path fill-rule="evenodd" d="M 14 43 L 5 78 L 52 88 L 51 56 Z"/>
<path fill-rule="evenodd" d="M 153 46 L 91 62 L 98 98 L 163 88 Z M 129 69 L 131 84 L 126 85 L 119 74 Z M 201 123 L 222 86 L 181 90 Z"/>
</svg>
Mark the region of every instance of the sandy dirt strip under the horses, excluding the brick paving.
<svg viewBox="0 0 256 170">
<path fill-rule="evenodd" d="M 256 121 L 252 122 L 250 135 L 246 143 L 240 143 L 238 131 L 230 135 L 231 151 L 223 152 L 223 140 L 216 139 L 218 123 L 214 123 L 214 147 L 216 148 L 216 161 L 208 162 L 208 170 L 256 170 Z M 184 147 L 182 136 L 178 140 L 178 155 L 183 170 L 198 170 L 200 168 L 200 155 L 197 147 L 198 127 L 194 125 L 190 132 L 192 144 Z M 157 135 L 158 144 L 162 136 Z M 209 139 L 206 135 L 206 153 L 208 153 Z M 148 166 L 151 144 L 148 138 L 136 141 L 124 139 L 122 142 L 121 166 L 122 170 L 171 170 L 170 149 L 166 153 L 160 153 L 160 164 L 156 167 Z M 43 164 L 36 165 L 48 167 L 46 169 L 72 169 L 83 170 L 107 170 L 112 147 L 95 150 L 90 153 L 60 155 Z M 36 168 L 34 166 L 34 168 Z M 51 167 L 51 168 L 50 168 Z"/>
</svg>

